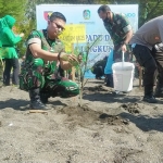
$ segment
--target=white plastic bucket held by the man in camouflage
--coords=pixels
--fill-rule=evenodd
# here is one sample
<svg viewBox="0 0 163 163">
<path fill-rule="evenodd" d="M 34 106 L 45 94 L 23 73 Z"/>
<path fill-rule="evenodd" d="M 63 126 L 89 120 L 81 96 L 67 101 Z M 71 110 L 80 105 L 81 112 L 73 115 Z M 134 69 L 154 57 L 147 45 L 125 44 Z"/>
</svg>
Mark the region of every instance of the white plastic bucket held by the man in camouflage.
<svg viewBox="0 0 163 163">
<path fill-rule="evenodd" d="M 112 65 L 114 90 L 130 91 L 133 89 L 135 65 L 130 62 L 116 62 Z"/>
</svg>

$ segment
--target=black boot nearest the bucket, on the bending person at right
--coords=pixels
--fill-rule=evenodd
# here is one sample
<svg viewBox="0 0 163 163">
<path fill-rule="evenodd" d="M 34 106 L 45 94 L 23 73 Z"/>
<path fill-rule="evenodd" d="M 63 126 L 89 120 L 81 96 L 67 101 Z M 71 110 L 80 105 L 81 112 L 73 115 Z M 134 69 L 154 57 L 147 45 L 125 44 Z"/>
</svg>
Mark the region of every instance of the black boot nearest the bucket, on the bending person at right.
<svg viewBox="0 0 163 163">
<path fill-rule="evenodd" d="M 158 100 L 153 96 L 153 86 L 145 86 L 145 97 L 142 100 L 149 103 L 158 102 Z"/>
</svg>

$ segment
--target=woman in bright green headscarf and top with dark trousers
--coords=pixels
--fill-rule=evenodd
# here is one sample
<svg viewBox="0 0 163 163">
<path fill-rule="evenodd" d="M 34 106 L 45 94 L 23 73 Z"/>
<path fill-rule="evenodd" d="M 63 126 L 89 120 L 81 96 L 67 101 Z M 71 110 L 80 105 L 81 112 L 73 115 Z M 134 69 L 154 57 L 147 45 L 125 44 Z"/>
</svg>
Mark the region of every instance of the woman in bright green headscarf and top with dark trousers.
<svg viewBox="0 0 163 163">
<path fill-rule="evenodd" d="M 18 41 L 22 40 L 24 34 L 15 36 L 12 32 L 16 20 L 11 15 L 5 15 L 1 18 L 0 25 L 0 40 L 1 40 L 1 54 L 5 63 L 3 72 L 3 85 L 10 85 L 10 75 L 11 70 L 13 68 L 12 84 L 18 85 L 18 73 L 20 73 L 20 63 L 18 57 L 15 49 L 15 46 Z"/>
</svg>

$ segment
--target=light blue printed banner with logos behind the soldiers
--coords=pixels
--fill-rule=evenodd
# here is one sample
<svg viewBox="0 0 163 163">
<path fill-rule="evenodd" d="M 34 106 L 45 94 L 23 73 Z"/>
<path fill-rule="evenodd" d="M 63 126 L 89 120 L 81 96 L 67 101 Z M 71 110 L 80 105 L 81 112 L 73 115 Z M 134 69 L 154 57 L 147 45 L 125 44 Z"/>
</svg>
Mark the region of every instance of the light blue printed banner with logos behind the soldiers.
<svg viewBox="0 0 163 163">
<path fill-rule="evenodd" d="M 52 12 L 61 12 L 66 17 L 67 25 L 85 25 L 86 27 L 86 42 L 90 46 L 100 36 L 100 40 L 90 49 L 89 66 L 95 62 L 109 55 L 113 49 L 111 37 L 103 26 L 102 20 L 98 15 L 98 9 L 101 4 L 40 4 L 36 7 L 37 29 L 47 27 L 48 16 Z M 109 4 L 111 10 L 115 13 L 124 13 L 134 32 L 138 29 L 138 4 Z M 78 43 L 80 51 L 84 50 L 86 43 Z M 86 77 L 92 77 L 91 73 Z"/>
</svg>

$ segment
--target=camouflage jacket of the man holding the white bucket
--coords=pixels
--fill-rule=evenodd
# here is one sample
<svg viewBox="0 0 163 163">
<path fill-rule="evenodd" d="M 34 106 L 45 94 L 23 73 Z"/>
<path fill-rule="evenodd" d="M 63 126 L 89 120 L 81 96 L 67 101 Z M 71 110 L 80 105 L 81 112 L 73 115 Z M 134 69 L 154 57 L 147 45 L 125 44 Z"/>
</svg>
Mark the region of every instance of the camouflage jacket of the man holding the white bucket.
<svg viewBox="0 0 163 163">
<path fill-rule="evenodd" d="M 104 27 L 109 32 L 114 46 L 125 40 L 126 34 L 131 29 L 129 21 L 124 14 L 113 13 L 113 21 L 104 22 Z"/>
</svg>

